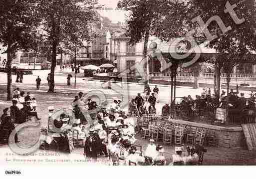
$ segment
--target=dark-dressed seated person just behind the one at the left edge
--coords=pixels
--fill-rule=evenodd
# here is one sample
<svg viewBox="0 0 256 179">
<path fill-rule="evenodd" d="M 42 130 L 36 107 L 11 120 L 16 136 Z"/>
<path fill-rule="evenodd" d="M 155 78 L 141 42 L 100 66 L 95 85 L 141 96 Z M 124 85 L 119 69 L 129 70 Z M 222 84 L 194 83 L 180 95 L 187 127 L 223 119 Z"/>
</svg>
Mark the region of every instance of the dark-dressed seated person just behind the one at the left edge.
<svg viewBox="0 0 256 179">
<path fill-rule="evenodd" d="M 10 107 L 10 116 L 14 118 L 14 122 L 17 124 L 22 124 L 26 122 L 26 114 L 19 110 L 17 105 L 17 101 L 12 100 L 12 106 Z"/>
</svg>

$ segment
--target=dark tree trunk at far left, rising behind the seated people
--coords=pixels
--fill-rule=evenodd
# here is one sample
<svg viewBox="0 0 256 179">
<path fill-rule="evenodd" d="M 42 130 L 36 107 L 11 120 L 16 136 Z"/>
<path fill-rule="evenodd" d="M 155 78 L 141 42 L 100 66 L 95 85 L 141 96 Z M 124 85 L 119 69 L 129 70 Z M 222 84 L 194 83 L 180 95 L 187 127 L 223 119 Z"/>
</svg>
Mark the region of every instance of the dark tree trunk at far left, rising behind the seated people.
<svg viewBox="0 0 256 179">
<path fill-rule="evenodd" d="M 7 70 L 7 101 L 12 99 L 12 79 L 11 79 L 11 50 L 9 49 L 10 44 L 8 44 L 7 48 L 7 62 L 6 62 L 6 70 Z"/>
</svg>

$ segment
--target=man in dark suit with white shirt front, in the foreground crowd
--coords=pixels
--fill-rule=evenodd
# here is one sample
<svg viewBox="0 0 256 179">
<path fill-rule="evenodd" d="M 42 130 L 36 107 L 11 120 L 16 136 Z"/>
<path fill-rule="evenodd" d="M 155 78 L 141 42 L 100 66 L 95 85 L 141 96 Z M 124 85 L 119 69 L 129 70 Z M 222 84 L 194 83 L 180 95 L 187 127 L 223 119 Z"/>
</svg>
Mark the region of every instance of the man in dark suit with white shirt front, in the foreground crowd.
<svg viewBox="0 0 256 179">
<path fill-rule="evenodd" d="M 95 136 L 95 133 L 93 130 L 89 131 L 89 137 L 86 138 L 85 144 L 84 144 L 84 155 L 87 158 L 92 159 L 94 162 L 97 161 L 97 156 L 100 152 L 100 146 L 101 142 L 99 140 L 99 137 Z"/>
</svg>

